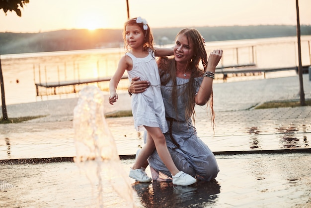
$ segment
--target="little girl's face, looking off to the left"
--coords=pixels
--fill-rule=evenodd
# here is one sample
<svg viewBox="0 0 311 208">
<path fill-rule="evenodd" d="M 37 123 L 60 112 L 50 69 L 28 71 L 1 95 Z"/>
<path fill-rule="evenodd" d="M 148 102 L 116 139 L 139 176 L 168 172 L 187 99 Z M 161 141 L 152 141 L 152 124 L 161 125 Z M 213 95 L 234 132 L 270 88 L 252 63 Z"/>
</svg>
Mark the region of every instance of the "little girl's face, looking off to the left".
<svg viewBox="0 0 311 208">
<path fill-rule="evenodd" d="M 143 47 L 145 43 L 145 33 L 138 25 L 127 25 L 125 27 L 125 40 L 132 49 Z"/>
</svg>

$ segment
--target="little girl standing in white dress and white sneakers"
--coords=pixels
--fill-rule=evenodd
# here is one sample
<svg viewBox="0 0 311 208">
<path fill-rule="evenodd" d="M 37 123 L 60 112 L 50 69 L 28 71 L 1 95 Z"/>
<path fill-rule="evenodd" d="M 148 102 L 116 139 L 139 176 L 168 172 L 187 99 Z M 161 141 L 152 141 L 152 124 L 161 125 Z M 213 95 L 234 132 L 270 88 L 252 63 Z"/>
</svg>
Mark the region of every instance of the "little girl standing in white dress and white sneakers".
<svg viewBox="0 0 311 208">
<path fill-rule="evenodd" d="M 179 171 L 168 152 L 163 133 L 168 131 L 165 119 L 165 109 L 160 91 L 160 78 L 155 56 L 172 55 L 172 49 L 155 49 L 153 35 L 145 19 L 141 17 L 129 19 L 124 25 L 124 41 L 127 53 L 121 58 L 116 73 L 110 80 L 109 103 L 118 99 L 116 89 L 118 83 L 127 70 L 129 80 L 140 77 L 150 81 L 150 88 L 143 93 L 133 94 L 132 112 L 134 125 L 138 131 L 146 129 L 148 132 L 146 145 L 139 152 L 129 177 L 140 181 L 150 182 L 151 178 L 144 171 L 143 164 L 154 152 L 157 153 L 172 175 L 175 185 L 188 186 L 196 182 L 192 176 Z"/>
</svg>

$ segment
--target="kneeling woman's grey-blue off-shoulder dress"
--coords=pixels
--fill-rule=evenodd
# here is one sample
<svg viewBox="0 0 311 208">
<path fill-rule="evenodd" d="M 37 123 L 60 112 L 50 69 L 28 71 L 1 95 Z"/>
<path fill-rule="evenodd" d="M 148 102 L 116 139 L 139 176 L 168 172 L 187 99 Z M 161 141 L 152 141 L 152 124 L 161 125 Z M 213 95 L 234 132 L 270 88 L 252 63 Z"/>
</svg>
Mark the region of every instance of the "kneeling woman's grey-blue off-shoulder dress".
<svg viewBox="0 0 311 208">
<path fill-rule="evenodd" d="M 188 79 L 176 78 L 177 91 L 182 91 L 188 83 Z M 200 88 L 203 78 L 196 78 L 196 92 Z M 199 180 L 210 181 L 216 178 L 219 168 L 216 158 L 209 147 L 197 136 L 195 127 L 191 118 L 185 120 L 185 104 L 183 96 L 178 96 L 178 115 L 176 114 L 171 101 L 171 87 L 168 83 L 166 86 L 161 86 L 167 125 L 170 130 L 166 132 L 165 138 L 167 148 L 172 156 L 176 167 L 185 173 L 196 177 Z M 177 120 L 179 122 L 177 122 Z M 145 133 L 145 141 L 146 141 Z M 173 139 L 172 139 L 173 138 Z M 174 143 L 174 141 L 176 143 Z M 159 158 L 155 151 L 148 159 L 151 167 L 153 180 L 170 181 L 171 174 Z"/>
</svg>

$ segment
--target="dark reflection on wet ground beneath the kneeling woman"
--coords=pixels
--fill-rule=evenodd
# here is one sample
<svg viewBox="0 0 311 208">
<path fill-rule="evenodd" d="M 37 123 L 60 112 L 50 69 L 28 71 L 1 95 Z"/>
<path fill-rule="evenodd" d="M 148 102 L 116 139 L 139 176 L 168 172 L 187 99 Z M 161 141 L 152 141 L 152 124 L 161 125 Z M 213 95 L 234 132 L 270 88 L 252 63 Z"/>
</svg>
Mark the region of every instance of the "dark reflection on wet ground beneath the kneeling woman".
<svg viewBox="0 0 311 208">
<path fill-rule="evenodd" d="M 215 206 L 220 185 L 216 180 L 198 181 L 192 186 L 176 186 L 172 183 L 154 181 L 153 183 L 134 183 L 141 205 L 151 207 L 211 207 Z"/>
</svg>

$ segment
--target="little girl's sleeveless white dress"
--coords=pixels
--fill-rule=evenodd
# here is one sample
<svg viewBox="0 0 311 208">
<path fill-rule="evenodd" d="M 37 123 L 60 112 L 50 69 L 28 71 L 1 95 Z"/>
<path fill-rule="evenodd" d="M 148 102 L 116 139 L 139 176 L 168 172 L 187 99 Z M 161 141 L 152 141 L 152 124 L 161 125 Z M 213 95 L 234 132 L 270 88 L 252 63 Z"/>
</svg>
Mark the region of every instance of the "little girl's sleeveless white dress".
<svg viewBox="0 0 311 208">
<path fill-rule="evenodd" d="M 144 93 L 132 95 L 132 113 L 136 130 L 146 130 L 145 125 L 159 127 L 163 133 L 167 132 L 160 76 L 154 53 L 149 50 L 148 56 L 144 58 L 136 58 L 129 52 L 125 55 L 133 60 L 133 69 L 127 71 L 129 81 L 131 82 L 134 77 L 140 77 L 140 80 L 148 80 L 151 85 Z"/>
</svg>

